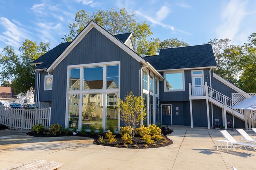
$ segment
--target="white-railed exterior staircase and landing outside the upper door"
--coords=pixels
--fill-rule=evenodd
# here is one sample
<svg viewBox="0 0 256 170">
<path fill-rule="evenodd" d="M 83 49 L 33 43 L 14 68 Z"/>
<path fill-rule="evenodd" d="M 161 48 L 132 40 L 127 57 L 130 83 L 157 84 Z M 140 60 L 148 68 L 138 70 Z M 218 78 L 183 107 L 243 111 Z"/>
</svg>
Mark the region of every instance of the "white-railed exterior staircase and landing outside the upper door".
<svg viewBox="0 0 256 170">
<path fill-rule="evenodd" d="M 232 109 L 230 108 L 233 106 L 232 99 L 230 97 L 227 97 L 226 95 L 223 95 L 219 91 L 214 90 L 213 88 L 207 86 L 207 82 L 205 85 L 201 86 L 192 86 L 189 83 L 189 100 L 200 100 L 200 99 L 206 99 L 207 101 L 211 102 L 212 104 L 215 104 L 216 106 L 219 106 L 223 109 L 223 123 L 225 128 L 227 128 L 227 120 L 226 120 L 226 112 L 230 113 L 231 115 L 234 114 L 235 117 L 245 121 L 245 124 L 247 122 L 249 123 L 249 129 L 252 124 L 252 128 L 254 128 L 254 114 L 249 114 L 247 111 L 244 111 L 242 109 Z M 246 115 L 246 116 L 245 116 Z M 209 128 L 209 126 L 208 126 Z M 247 126 L 246 126 L 247 129 Z"/>
</svg>

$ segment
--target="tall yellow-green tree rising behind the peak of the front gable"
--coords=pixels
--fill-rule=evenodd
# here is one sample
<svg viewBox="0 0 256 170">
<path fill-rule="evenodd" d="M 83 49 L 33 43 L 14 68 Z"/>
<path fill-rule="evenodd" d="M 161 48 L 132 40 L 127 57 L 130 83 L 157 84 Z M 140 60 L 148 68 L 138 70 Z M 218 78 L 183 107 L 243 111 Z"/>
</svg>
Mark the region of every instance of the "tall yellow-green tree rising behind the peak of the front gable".
<svg viewBox="0 0 256 170">
<path fill-rule="evenodd" d="M 147 37 L 153 34 L 147 22 L 138 22 L 133 11 L 129 12 L 125 8 L 116 11 L 111 8 L 106 11 L 99 10 L 96 13 L 85 10 L 78 11 L 74 22 L 69 25 L 70 33 L 62 39 L 67 42 L 72 41 L 91 20 L 94 20 L 113 35 L 132 32 L 135 46 L 147 43 Z M 137 53 L 143 54 L 139 50 Z"/>
</svg>

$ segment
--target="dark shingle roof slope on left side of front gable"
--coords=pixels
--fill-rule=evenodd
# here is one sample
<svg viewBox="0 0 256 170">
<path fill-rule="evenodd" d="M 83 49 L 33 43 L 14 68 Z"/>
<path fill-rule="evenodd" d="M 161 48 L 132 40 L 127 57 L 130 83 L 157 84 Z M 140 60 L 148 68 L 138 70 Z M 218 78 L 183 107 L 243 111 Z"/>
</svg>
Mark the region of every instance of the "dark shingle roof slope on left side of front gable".
<svg viewBox="0 0 256 170">
<path fill-rule="evenodd" d="M 61 53 L 67 48 L 67 46 L 69 46 L 70 43 L 71 42 L 61 43 L 58 46 L 51 49 L 50 51 L 48 51 L 47 53 L 45 53 L 44 55 L 42 55 L 41 57 L 34 60 L 32 64 L 37 62 L 43 62 L 34 69 L 47 69 L 56 60 L 56 58 L 58 58 L 59 55 L 61 55 Z"/>
</svg>

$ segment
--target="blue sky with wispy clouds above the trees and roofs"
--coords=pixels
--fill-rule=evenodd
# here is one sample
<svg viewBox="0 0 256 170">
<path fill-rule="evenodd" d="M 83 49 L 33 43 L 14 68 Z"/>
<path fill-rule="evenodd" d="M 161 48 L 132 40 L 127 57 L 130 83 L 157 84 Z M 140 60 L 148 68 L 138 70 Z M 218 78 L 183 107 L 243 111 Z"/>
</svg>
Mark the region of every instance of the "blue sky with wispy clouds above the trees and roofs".
<svg viewBox="0 0 256 170">
<path fill-rule="evenodd" d="M 52 49 L 69 33 L 78 10 L 111 7 L 134 11 L 160 40 L 197 45 L 230 38 L 232 44 L 243 44 L 256 32 L 255 0 L 0 0 L 0 50 L 7 45 L 18 49 L 26 38 L 50 42 Z"/>
</svg>

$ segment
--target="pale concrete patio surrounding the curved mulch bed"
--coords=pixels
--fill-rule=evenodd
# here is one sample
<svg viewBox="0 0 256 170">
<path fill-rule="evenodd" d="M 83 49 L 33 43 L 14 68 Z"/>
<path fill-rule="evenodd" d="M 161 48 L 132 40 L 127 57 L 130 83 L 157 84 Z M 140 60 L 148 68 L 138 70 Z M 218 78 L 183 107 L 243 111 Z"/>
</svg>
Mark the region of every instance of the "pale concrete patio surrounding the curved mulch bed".
<svg viewBox="0 0 256 170">
<path fill-rule="evenodd" d="M 123 149 L 92 144 L 85 137 L 31 137 L 28 131 L 0 132 L 0 169 L 33 159 L 64 163 L 60 170 L 255 170 L 256 154 L 235 149 L 216 149 L 224 139 L 218 130 L 171 126 L 170 146 L 154 149 Z M 229 131 L 239 141 L 238 132 Z M 252 137 L 253 132 L 248 132 Z"/>
</svg>

